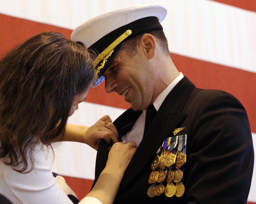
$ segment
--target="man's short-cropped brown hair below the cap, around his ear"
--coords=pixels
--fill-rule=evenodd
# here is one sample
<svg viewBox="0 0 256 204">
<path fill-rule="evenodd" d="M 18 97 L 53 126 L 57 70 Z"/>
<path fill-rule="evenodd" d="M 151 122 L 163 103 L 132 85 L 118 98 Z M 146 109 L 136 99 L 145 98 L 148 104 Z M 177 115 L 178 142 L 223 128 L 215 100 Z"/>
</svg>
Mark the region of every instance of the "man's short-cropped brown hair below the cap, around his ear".
<svg viewBox="0 0 256 204">
<path fill-rule="evenodd" d="M 164 53 L 166 53 L 167 55 L 170 55 L 169 49 L 168 49 L 168 42 L 163 30 L 157 29 L 153 31 L 148 31 L 147 33 L 153 35 L 156 41 L 160 44 Z M 126 42 L 123 42 L 119 50 L 125 50 L 126 53 L 129 55 L 129 57 L 135 56 L 135 54 L 137 54 L 137 49 L 135 48 L 137 47 L 138 41 L 141 39 L 143 34 L 140 34 Z"/>
</svg>

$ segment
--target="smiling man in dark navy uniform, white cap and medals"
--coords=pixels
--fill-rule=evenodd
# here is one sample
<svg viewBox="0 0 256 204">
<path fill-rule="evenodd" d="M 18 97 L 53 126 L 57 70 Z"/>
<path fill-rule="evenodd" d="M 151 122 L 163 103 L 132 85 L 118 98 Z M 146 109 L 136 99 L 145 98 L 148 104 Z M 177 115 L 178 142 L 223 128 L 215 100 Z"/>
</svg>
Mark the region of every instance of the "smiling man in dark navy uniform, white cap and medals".
<svg viewBox="0 0 256 204">
<path fill-rule="evenodd" d="M 124 8 L 71 35 L 98 53 L 95 85 L 105 78 L 105 91 L 131 104 L 113 122 L 122 141 L 137 144 L 114 203 L 246 203 L 254 163 L 246 110 L 178 72 L 160 24 L 166 13 L 162 4 Z M 100 142 L 95 182 L 109 148 Z"/>
</svg>

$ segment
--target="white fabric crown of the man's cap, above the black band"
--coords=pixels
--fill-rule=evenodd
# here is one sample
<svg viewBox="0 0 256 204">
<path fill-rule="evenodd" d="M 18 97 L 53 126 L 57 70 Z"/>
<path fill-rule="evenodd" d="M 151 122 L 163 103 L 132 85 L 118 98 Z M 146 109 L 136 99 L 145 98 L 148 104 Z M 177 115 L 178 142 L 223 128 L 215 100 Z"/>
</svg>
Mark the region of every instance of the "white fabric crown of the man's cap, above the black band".
<svg viewBox="0 0 256 204">
<path fill-rule="evenodd" d="M 154 16 L 161 23 L 167 14 L 165 5 L 160 3 L 143 4 L 111 11 L 94 17 L 73 30 L 71 40 L 79 41 L 86 47 L 100 40 L 111 31 L 135 20 Z"/>
</svg>

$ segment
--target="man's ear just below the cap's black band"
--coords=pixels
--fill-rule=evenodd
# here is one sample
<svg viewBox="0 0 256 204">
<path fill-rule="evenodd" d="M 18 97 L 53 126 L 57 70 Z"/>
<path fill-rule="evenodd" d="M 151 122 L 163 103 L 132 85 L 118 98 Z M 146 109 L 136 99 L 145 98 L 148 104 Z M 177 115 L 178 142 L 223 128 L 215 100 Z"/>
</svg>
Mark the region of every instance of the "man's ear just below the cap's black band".
<svg viewBox="0 0 256 204">
<path fill-rule="evenodd" d="M 145 33 L 142 35 L 139 46 L 143 49 L 144 54 L 148 59 L 152 59 L 156 55 L 156 39 L 153 35 Z"/>
</svg>

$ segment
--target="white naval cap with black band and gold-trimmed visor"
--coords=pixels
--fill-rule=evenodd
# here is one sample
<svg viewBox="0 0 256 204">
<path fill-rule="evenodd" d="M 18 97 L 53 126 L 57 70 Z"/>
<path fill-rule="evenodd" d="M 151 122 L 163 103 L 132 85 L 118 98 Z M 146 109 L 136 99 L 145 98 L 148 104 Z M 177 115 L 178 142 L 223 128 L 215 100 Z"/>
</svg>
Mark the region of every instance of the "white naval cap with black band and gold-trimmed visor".
<svg viewBox="0 0 256 204">
<path fill-rule="evenodd" d="M 111 11 L 79 25 L 71 34 L 71 40 L 81 42 L 99 55 L 94 60 L 99 80 L 117 54 L 121 43 L 148 31 L 163 29 L 161 22 L 167 14 L 163 4 L 144 4 Z"/>
</svg>

